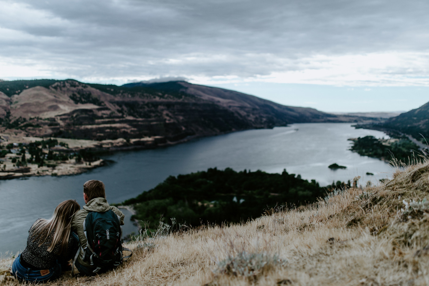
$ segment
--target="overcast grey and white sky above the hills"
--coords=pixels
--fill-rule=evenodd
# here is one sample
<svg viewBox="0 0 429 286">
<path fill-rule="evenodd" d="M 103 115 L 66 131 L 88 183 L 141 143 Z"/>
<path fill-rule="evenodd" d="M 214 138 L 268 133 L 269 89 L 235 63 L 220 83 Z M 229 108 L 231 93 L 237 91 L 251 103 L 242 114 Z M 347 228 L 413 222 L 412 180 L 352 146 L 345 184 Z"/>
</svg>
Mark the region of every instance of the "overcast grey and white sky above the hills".
<svg viewBox="0 0 429 286">
<path fill-rule="evenodd" d="M 0 0 L 0 79 L 163 77 L 323 111 L 429 101 L 427 0 Z"/>
</svg>

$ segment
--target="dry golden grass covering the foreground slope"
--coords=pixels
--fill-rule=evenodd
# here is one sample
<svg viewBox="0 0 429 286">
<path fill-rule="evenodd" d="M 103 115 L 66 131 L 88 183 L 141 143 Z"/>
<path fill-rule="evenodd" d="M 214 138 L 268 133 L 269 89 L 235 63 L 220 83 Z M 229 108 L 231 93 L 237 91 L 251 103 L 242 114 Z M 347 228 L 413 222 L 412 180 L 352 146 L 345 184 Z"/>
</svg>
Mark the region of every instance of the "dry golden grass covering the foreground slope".
<svg viewBox="0 0 429 286">
<path fill-rule="evenodd" d="M 66 273 L 49 285 L 429 285 L 427 210 L 401 212 L 404 199 L 429 199 L 428 190 L 426 161 L 303 211 L 137 241 L 128 246 L 133 259 L 116 271 Z"/>
</svg>

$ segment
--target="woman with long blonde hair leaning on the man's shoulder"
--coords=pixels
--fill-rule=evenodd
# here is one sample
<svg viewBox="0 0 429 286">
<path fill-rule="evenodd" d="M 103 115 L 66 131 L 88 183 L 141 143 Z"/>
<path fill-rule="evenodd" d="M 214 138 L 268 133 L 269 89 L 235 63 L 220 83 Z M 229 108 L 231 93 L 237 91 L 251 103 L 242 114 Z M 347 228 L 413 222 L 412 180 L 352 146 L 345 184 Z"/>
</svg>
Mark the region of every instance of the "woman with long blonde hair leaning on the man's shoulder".
<svg viewBox="0 0 429 286">
<path fill-rule="evenodd" d="M 44 283 L 68 270 L 79 247 L 70 231 L 73 215 L 80 210 L 75 200 L 60 203 L 50 219 L 37 219 L 31 226 L 27 247 L 12 264 L 12 274 L 19 280 Z"/>
</svg>

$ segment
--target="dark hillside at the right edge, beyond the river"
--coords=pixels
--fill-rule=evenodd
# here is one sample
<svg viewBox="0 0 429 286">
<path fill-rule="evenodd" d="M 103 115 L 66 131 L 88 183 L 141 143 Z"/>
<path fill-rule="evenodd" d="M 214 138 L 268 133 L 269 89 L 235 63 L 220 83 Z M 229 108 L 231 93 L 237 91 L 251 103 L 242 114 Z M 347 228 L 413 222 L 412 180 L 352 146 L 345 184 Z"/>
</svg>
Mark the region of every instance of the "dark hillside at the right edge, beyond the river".
<svg viewBox="0 0 429 286">
<path fill-rule="evenodd" d="M 382 124 L 385 128 L 401 131 L 409 134 L 417 140 L 422 140 L 422 135 L 429 138 L 429 102 L 419 108 L 402 113 L 399 116 L 387 119 Z M 421 134 L 421 135 L 420 135 Z"/>
</svg>

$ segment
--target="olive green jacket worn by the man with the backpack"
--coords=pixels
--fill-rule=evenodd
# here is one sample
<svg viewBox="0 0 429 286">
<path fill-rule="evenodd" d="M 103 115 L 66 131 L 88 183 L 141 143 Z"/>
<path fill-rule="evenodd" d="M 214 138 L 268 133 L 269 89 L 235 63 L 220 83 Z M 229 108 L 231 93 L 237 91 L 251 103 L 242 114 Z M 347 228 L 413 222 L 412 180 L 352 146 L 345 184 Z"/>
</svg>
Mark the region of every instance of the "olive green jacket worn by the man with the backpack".
<svg viewBox="0 0 429 286">
<path fill-rule="evenodd" d="M 88 201 L 88 203 L 83 207 L 83 210 L 78 210 L 77 213 L 73 216 L 72 231 L 74 231 L 79 237 L 82 248 L 86 247 L 86 237 L 83 232 L 83 222 L 86 219 L 86 216 L 88 216 L 88 213 L 90 211 L 104 213 L 108 210 L 113 210 L 114 213 L 120 216 L 121 225 L 124 225 L 125 215 L 120 210 L 118 210 L 117 207 L 110 206 L 105 198 L 94 198 L 91 201 Z M 82 256 L 84 253 L 82 248 L 80 249 L 80 255 L 78 256 L 77 261 L 83 266 L 92 268 L 93 266 L 91 266 L 91 264 L 83 261 Z"/>
</svg>

